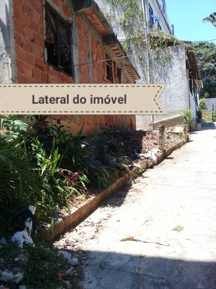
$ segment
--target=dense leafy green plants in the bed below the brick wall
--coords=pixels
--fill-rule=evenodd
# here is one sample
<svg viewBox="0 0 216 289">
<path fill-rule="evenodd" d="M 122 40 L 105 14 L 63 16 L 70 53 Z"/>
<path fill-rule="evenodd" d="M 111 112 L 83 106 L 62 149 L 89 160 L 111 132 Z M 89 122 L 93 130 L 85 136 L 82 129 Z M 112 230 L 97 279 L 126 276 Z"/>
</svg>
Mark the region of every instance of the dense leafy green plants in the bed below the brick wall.
<svg viewBox="0 0 216 289">
<path fill-rule="evenodd" d="M 74 135 L 61 120 L 47 118 L 37 116 L 32 125 L 0 119 L 0 206 L 37 205 L 38 220 L 53 227 L 56 202 L 70 213 L 74 196 L 85 199 L 92 186 L 106 188 L 118 171 L 106 157 L 104 135 L 87 139 L 83 126 Z"/>
</svg>

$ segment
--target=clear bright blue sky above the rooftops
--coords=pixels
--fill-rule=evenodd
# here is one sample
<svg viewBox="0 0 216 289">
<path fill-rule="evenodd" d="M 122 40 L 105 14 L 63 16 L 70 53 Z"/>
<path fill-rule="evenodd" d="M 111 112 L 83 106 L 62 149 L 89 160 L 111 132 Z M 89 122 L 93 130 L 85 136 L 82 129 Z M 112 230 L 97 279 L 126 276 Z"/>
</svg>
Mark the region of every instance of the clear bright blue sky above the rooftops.
<svg viewBox="0 0 216 289">
<path fill-rule="evenodd" d="M 202 19 L 216 12 L 215 0 L 166 0 L 166 3 L 177 38 L 187 41 L 216 39 L 216 28 L 211 23 L 202 23 Z"/>
</svg>

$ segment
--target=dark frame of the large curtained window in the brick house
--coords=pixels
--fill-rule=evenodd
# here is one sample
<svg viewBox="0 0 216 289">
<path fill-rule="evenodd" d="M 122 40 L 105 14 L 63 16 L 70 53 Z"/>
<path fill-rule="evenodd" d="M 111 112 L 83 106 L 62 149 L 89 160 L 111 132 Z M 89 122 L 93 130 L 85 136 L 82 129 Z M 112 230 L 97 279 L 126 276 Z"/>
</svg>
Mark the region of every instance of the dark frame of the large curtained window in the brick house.
<svg viewBox="0 0 216 289">
<path fill-rule="evenodd" d="M 59 38 L 59 23 L 58 20 L 60 20 L 63 24 L 65 24 L 67 26 L 67 37 L 68 37 L 68 42 L 69 42 L 69 46 L 70 46 L 70 51 L 69 51 L 69 60 L 70 60 L 70 73 L 68 73 L 67 71 L 64 70 L 64 74 L 70 76 L 73 78 L 74 76 L 74 70 L 73 70 L 73 53 L 72 53 L 72 49 L 73 46 L 71 45 L 71 35 L 70 35 L 70 31 L 71 31 L 71 26 L 72 23 L 66 21 L 64 18 L 61 17 L 61 15 L 58 13 L 58 11 L 56 11 L 51 5 L 49 5 L 49 3 L 45 2 L 44 5 L 44 9 L 48 8 L 50 10 L 50 12 L 52 14 L 54 14 L 55 16 L 55 25 L 56 25 L 56 31 L 57 31 L 57 50 L 58 50 L 58 65 L 61 66 L 61 52 L 60 52 L 60 38 Z M 45 11 L 46 13 L 46 11 Z M 45 20 L 45 19 L 44 19 Z M 46 20 L 45 20 L 46 22 Z M 46 25 L 45 25 L 45 35 L 46 35 Z M 44 39 L 44 42 L 46 43 L 46 38 Z M 46 46 L 45 46 L 46 47 Z M 60 63 L 60 64 L 59 64 Z M 58 66 L 55 66 L 54 64 L 51 64 L 48 62 L 47 59 L 47 64 L 49 64 L 49 66 L 52 66 L 55 70 L 57 71 L 62 71 L 62 69 Z"/>
</svg>

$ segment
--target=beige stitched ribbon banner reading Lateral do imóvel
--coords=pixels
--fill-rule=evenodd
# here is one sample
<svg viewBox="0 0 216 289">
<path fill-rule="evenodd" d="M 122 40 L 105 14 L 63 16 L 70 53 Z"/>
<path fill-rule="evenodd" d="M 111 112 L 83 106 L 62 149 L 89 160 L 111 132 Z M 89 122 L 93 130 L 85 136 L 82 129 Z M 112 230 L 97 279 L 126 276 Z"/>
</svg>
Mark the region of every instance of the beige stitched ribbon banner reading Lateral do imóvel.
<svg viewBox="0 0 216 289">
<path fill-rule="evenodd" d="M 166 84 L 1 84 L 1 114 L 166 114 Z"/>
</svg>

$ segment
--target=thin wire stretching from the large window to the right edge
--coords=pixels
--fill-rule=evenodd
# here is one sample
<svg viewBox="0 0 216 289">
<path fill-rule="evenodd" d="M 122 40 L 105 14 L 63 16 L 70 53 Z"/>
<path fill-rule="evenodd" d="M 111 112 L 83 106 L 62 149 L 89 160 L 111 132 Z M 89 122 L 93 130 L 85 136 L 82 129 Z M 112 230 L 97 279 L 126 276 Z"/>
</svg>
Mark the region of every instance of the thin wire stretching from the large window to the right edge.
<svg viewBox="0 0 216 289">
<path fill-rule="evenodd" d="M 70 65 L 70 66 L 62 67 L 62 69 L 64 69 L 64 68 L 69 68 L 69 67 L 80 66 L 80 65 L 93 64 L 93 63 L 102 62 L 102 61 L 107 61 L 107 60 L 122 59 L 122 58 L 130 57 L 130 56 L 137 56 L 137 55 L 142 55 L 142 54 L 147 54 L 147 53 L 152 53 L 152 52 L 160 52 L 160 51 L 164 51 L 164 50 L 168 50 L 168 49 L 173 49 L 173 48 L 176 48 L 176 47 L 185 47 L 185 46 L 188 46 L 188 45 L 194 45 L 194 44 L 203 43 L 203 42 L 211 42 L 211 41 L 215 41 L 215 40 L 216 40 L 216 39 L 199 41 L 199 42 L 194 42 L 194 43 L 188 43 L 188 44 L 183 44 L 183 45 L 177 45 L 177 46 L 162 48 L 162 49 L 158 49 L 158 50 L 152 50 L 152 51 L 147 51 L 147 52 L 140 52 L 140 53 L 136 53 L 136 54 L 130 54 L 130 55 L 121 56 L 121 57 L 114 57 L 114 58 L 103 59 L 103 60 L 98 60 L 98 61 L 92 61 L 92 62 L 86 62 L 86 63 L 81 63 L 81 64 L 75 64 L 75 65 Z"/>
</svg>

